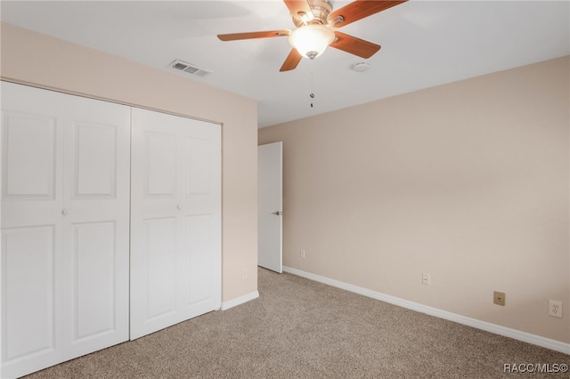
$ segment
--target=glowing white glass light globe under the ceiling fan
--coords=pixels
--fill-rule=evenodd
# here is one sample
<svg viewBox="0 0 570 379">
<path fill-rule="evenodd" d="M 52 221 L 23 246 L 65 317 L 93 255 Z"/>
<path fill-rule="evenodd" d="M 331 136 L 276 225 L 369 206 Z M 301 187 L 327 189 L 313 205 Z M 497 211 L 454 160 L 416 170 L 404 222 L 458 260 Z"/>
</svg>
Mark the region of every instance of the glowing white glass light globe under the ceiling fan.
<svg viewBox="0 0 570 379">
<path fill-rule="evenodd" d="M 305 25 L 289 35 L 289 44 L 311 60 L 322 54 L 335 39 L 335 33 L 324 25 Z"/>
</svg>

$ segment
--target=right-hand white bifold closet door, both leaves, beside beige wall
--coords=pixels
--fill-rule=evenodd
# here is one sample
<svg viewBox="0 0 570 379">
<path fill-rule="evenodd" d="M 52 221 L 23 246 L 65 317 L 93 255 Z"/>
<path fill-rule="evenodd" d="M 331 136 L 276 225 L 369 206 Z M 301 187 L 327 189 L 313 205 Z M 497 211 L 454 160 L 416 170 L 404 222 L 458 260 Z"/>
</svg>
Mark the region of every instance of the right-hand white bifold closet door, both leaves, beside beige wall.
<svg viewBox="0 0 570 379">
<path fill-rule="evenodd" d="M 221 305 L 221 126 L 133 109 L 131 339 Z"/>
</svg>

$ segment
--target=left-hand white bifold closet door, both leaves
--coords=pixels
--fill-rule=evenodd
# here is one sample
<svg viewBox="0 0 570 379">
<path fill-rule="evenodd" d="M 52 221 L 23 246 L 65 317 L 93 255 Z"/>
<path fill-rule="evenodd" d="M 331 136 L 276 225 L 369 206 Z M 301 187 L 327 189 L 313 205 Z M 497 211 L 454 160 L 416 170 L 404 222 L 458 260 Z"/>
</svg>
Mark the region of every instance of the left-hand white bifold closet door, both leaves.
<svg viewBox="0 0 570 379">
<path fill-rule="evenodd" d="M 2 82 L 2 377 L 128 339 L 130 108 Z"/>
</svg>

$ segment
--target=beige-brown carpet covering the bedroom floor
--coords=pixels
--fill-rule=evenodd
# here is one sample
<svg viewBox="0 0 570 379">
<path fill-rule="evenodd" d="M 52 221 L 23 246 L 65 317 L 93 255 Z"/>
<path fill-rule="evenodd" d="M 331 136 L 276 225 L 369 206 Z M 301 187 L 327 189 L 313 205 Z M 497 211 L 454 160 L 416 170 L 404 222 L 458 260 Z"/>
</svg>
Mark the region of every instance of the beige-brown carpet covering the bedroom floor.
<svg viewBox="0 0 570 379">
<path fill-rule="evenodd" d="M 260 297 L 47 368 L 39 378 L 568 378 L 504 364 L 570 356 L 290 274 L 259 270 Z"/>
</svg>

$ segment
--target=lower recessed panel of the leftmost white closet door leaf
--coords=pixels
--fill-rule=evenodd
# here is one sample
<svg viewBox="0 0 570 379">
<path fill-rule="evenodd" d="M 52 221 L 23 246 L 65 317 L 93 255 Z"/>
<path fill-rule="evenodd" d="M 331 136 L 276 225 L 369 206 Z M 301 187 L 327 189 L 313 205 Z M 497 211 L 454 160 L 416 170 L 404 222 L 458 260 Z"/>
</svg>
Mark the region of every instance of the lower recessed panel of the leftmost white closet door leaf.
<svg viewBox="0 0 570 379">
<path fill-rule="evenodd" d="M 55 349 L 55 226 L 2 231 L 3 360 Z"/>
</svg>

